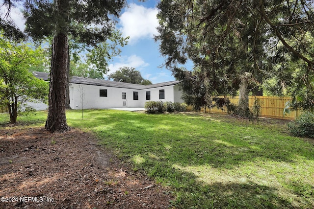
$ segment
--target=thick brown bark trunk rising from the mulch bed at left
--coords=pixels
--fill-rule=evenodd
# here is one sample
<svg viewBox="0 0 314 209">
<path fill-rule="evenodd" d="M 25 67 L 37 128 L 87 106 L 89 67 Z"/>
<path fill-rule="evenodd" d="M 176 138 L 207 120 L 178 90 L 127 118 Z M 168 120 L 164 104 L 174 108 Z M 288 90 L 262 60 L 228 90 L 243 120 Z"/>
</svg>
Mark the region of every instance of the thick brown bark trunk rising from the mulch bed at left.
<svg viewBox="0 0 314 209">
<path fill-rule="evenodd" d="M 46 130 L 69 130 L 65 115 L 69 43 L 66 33 L 59 32 L 52 43 L 52 67 L 50 72 L 49 107 Z"/>
</svg>

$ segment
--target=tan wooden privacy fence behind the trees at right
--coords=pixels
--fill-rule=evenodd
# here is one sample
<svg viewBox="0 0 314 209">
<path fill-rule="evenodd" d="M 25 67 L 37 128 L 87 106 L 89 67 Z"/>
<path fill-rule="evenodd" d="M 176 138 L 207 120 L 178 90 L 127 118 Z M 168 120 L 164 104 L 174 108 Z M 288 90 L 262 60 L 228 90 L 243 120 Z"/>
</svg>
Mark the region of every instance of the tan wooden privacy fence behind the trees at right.
<svg viewBox="0 0 314 209">
<path fill-rule="evenodd" d="M 239 97 L 229 98 L 230 102 L 237 105 Z M 287 101 L 291 100 L 291 97 L 277 97 L 277 96 L 249 96 L 249 107 L 252 108 L 254 105 L 254 100 L 257 99 L 261 109 L 262 117 L 279 118 L 293 120 L 296 116 L 300 115 L 299 111 L 292 111 L 290 114 L 284 116 L 283 111 Z M 191 111 L 192 106 L 188 106 L 187 110 Z M 201 109 L 204 112 L 204 108 Z M 216 114 L 227 114 L 227 108 L 220 110 L 218 108 L 206 108 L 206 113 L 216 113 Z"/>
</svg>

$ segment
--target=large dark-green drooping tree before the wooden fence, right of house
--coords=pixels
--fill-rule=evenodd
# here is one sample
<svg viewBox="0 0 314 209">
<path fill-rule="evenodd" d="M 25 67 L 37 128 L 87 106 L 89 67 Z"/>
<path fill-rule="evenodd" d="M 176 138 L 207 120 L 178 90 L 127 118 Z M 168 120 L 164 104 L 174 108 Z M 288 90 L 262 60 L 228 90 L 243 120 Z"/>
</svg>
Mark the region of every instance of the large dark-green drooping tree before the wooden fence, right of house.
<svg viewBox="0 0 314 209">
<path fill-rule="evenodd" d="M 186 98 L 189 94 L 196 109 L 210 107 L 216 95 L 235 95 L 240 90 L 238 113 L 247 116 L 248 89 L 258 89 L 262 82 L 264 42 L 261 31 L 254 30 L 259 13 L 249 3 L 254 2 L 176 0 L 158 4 L 160 51 L 166 56 L 166 66 L 183 79 Z M 177 67 L 187 59 L 195 64 L 192 74 Z M 191 84 L 194 88 L 189 88 Z"/>
</svg>

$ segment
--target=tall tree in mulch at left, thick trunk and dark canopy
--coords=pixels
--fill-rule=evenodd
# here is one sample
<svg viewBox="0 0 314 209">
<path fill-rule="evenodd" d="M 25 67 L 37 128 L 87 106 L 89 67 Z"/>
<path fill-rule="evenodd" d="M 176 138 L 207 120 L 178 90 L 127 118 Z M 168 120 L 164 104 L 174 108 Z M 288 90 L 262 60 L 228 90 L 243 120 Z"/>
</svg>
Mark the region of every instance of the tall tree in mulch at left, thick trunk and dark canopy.
<svg viewBox="0 0 314 209">
<path fill-rule="evenodd" d="M 27 33 L 33 38 L 53 36 L 47 131 L 69 129 L 65 115 L 70 69 L 69 35 L 87 46 L 105 42 L 115 32 L 115 18 L 125 4 L 125 0 L 25 1 Z"/>
</svg>

